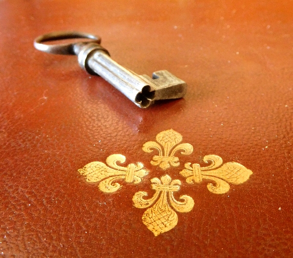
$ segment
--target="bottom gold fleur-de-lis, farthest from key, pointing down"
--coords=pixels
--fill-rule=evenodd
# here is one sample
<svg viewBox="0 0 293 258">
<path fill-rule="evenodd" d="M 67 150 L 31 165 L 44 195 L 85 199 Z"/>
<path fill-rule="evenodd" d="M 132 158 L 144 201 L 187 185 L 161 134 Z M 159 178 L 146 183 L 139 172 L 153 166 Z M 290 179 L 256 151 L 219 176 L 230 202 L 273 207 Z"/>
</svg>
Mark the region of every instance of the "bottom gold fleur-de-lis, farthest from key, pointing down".
<svg viewBox="0 0 293 258">
<path fill-rule="evenodd" d="M 190 196 L 183 195 L 180 202 L 174 198 L 173 192 L 180 189 L 181 181 L 176 179 L 172 180 L 170 176 L 165 175 L 150 180 L 152 182 L 151 188 L 155 190 L 152 198 L 144 199 L 147 196 L 146 192 L 137 192 L 133 198 L 133 205 L 137 208 L 147 208 L 143 215 L 143 223 L 155 235 L 169 231 L 177 225 L 178 217 L 174 210 L 178 212 L 189 212 L 194 206 L 194 201 Z M 169 203 L 168 203 L 169 200 Z M 154 202 L 156 203 L 154 204 Z M 174 208 L 174 210 L 171 208 Z"/>
</svg>

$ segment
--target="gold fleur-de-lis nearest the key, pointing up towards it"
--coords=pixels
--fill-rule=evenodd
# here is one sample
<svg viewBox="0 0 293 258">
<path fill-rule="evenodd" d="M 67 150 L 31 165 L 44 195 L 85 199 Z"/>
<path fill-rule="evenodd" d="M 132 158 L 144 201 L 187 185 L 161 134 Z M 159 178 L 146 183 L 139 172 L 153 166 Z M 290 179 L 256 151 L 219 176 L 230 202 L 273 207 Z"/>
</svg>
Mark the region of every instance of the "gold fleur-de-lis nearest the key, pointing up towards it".
<svg viewBox="0 0 293 258">
<path fill-rule="evenodd" d="M 175 153 L 179 150 L 182 150 L 181 154 L 184 155 L 189 155 L 193 152 L 193 147 L 191 144 L 179 144 L 182 139 L 183 138 L 181 134 L 172 129 L 169 129 L 157 134 L 156 136 L 157 142 L 163 146 L 164 151 L 162 147 L 155 141 L 147 141 L 143 145 L 143 151 L 150 153 L 153 151 L 153 149 L 156 149 L 159 152 L 159 155 L 153 156 L 153 160 L 150 161 L 150 163 L 154 166 L 159 165 L 164 170 L 169 168 L 170 165 L 173 167 L 178 167 L 180 163 L 178 162 L 178 157 L 174 157 Z"/>
</svg>

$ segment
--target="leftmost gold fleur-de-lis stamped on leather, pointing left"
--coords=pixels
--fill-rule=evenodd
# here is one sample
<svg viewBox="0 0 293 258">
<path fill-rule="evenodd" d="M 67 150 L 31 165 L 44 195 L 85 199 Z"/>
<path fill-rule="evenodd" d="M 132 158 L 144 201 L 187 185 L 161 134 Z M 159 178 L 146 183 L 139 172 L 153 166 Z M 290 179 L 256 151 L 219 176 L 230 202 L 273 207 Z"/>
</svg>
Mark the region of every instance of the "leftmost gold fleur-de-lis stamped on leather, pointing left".
<svg viewBox="0 0 293 258">
<path fill-rule="evenodd" d="M 78 171 L 86 177 L 88 182 L 100 181 L 99 189 L 102 192 L 113 193 L 121 188 L 121 185 L 114 181 L 124 179 L 127 183 L 138 184 L 148 174 L 148 171 L 143 169 L 144 165 L 141 162 L 131 163 L 127 167 L 117 165 L 117 162 L 124 163 L 125 161 L 125 156 L 113 154 L 106 159 L 106 163 L 110 167 L 103 162 L 94 161 Z"/>
</svg>

